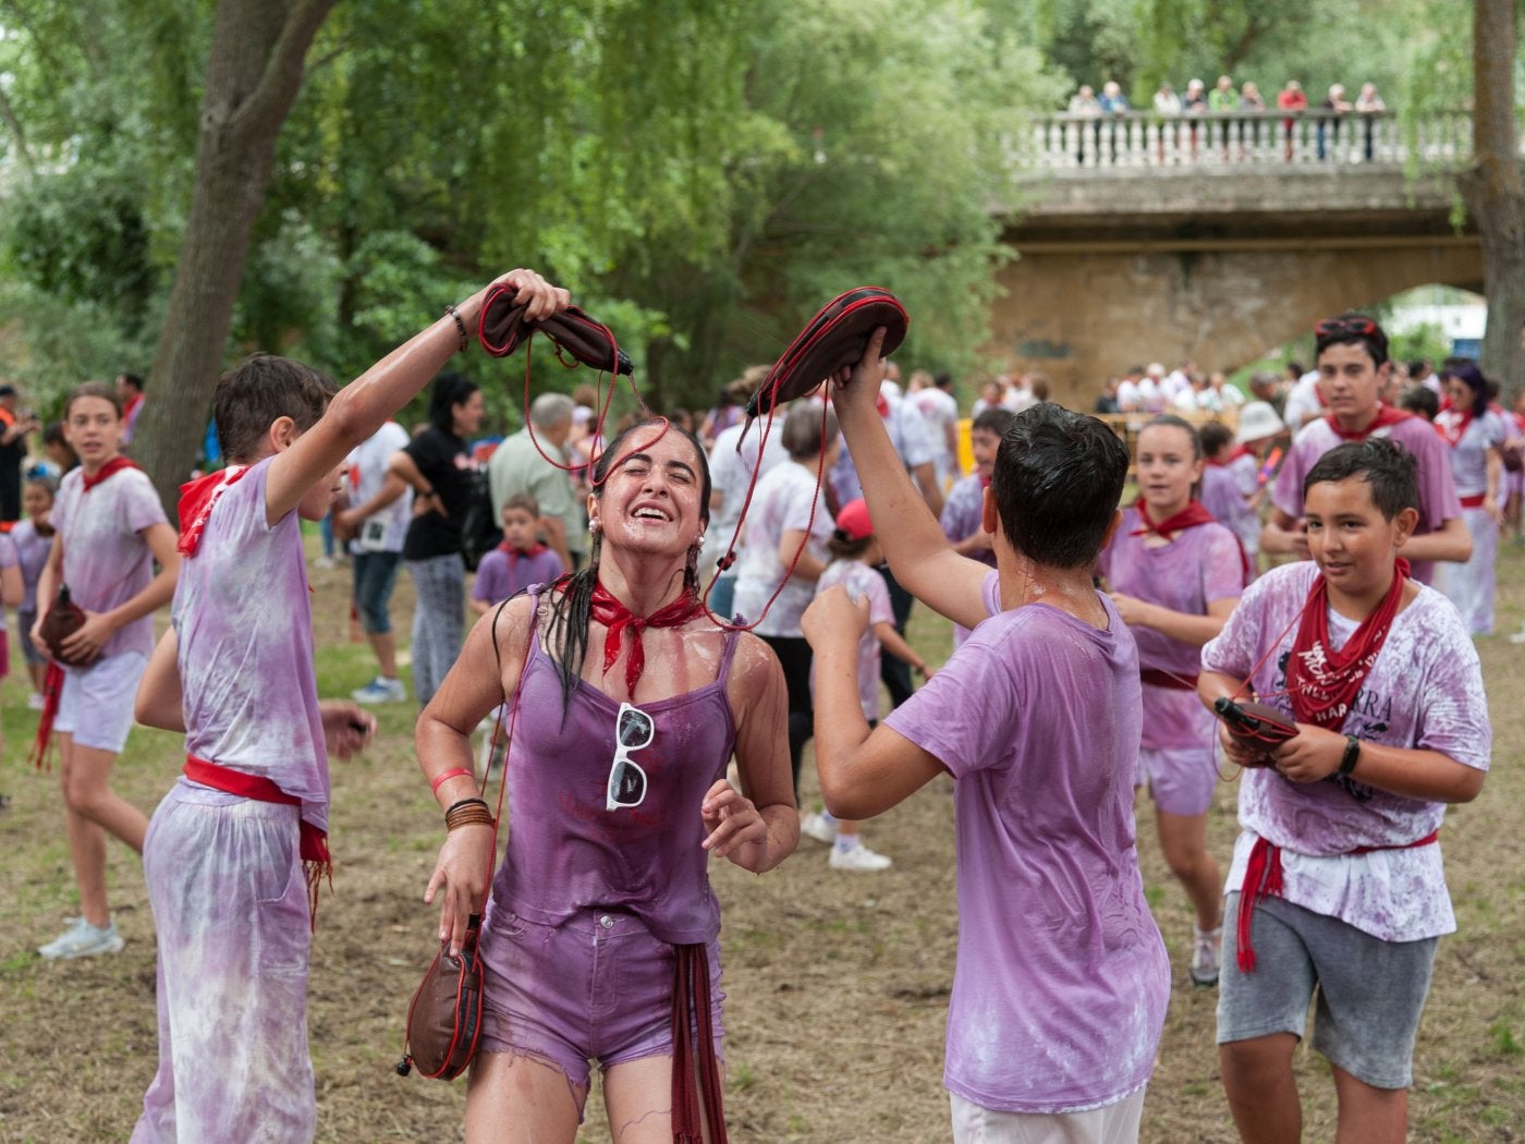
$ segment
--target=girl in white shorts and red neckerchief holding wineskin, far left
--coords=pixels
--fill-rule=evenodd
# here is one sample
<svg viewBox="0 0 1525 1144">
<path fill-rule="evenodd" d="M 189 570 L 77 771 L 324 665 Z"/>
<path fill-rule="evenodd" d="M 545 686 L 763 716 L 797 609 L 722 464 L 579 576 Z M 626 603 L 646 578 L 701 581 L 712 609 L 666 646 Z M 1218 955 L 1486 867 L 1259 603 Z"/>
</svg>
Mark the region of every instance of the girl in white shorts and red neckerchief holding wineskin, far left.
<svg viewBox="0 0 1525 1144">
<path fill-rule="evenodd" d="M 53 546 L 38 577 L 32 641 L 46 647 L 43 621 L 59 586 L 67 586 L 85 622 L 49 651 L 85 662 L 55 664 L 56 682 L 49 688 L 38 738 L 43 750 L 49 728 L 58 738 L 82 917 L 38 949 L 44 958 L 122 949 L 107 905 L 105 836 L 114 834 L 142 853 L 148 830 L 143 811 L 114 795 L 108 779 L 133 726 L 137 680 L 154 650 L 152 613 L 174 593 L 180 555 L 152 484 L 119 451 L 122 429 L 120 400 L 105 383 L 78 386 L 64 406 L 64 435 L 79 455 L 79 468 L 64 476 L 53 502 Z"/>
</svg>

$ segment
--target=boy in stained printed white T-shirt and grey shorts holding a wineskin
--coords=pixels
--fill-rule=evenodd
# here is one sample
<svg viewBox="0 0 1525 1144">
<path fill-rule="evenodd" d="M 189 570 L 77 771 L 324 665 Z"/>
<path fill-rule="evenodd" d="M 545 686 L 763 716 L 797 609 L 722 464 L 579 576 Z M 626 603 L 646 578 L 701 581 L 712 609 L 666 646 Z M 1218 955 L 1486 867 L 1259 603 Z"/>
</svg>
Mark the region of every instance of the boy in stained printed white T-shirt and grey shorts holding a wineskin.
<svg viewBox="0 0 1525 1144">
<path fill-rule="evenodd" d="M 1304 482 L 1313 561 L 1261 577 L 1202 650 L 1205 703 L 1249 691 L 1298 729 L 1269 752 L 1220 729 L 1247 767 L 1218 982 L 1223 1086 L 1246 1141 L 1301 1135 L 1292 1059 L 1315 988 L 1339 1138 L 1405 1136 L 1435 946 L 1456 929 L 1437 836 L 1446 804 L 1482 789 L 1491 747 L 1467 630 L 1398 557 L 1420 516 L 1415 468 L 1380 438 L 1325 453 Z"/>
</svg>

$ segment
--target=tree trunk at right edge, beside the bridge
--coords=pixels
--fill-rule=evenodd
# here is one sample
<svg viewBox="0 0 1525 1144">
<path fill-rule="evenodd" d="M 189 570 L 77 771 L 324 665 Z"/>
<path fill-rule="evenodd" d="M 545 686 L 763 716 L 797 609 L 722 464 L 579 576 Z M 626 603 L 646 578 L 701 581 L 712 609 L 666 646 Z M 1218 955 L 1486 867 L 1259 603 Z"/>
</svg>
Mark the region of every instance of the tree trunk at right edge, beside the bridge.
<svg viewBox="0 0 1525 1144">
<path fill-rule="evenodd" d="M 1514 121 L 1514 0 L 1476 0 L 1472 27 L 1473 166 L 1461 180 L 1482 236 L 1488 329 L 1482 372 L 1505 390 L 1525 381 L 1525 180 Z"/>
</svg>

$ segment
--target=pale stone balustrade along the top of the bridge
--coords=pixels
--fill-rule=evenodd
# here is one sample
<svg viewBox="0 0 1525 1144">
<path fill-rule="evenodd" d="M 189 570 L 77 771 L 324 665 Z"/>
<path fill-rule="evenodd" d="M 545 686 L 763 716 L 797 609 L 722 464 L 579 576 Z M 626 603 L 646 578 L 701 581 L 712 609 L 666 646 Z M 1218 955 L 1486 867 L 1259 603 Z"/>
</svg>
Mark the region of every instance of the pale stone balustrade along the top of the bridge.
<svg viewBox="0 0 1525 1144">
<path fill-rule="evenodd" d="M 1013 139 L 1019 166 L 1138 169 L 1168 166 L 1388 163 L 1411 157 L 1453 166 L 1472 156 L 1472 117 L 1438 114 L 1408 133 L 1392 111 L 1153 111 L 1034 117 Z"/>
</svg>

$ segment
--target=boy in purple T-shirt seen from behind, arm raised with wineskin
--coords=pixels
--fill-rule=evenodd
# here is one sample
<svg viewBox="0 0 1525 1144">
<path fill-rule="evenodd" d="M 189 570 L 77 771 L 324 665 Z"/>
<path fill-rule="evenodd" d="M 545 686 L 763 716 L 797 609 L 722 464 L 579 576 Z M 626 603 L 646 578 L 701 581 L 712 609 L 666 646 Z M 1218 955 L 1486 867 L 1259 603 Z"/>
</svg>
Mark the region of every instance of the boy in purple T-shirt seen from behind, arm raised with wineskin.
<svg viewBox="0 0 1525 1144">
<path fill-rule="evenodd" d="M 883 534 L 895 577 L 979 630 L 871 732 L 857 689 L 863 607 L 840 589 L 816 598 L 804 630 L 822 795 L 831 813 L 865 819 L 955 778 L 955 1141 L 1136 1139 L 1170 966 L 1133 840 L 1138 650 L 1092 583 L 1118 526 L 1127 448 L 1058 406 L 1019 413 L 984 499 L 991 570 L 952 549 L 880 426 L 881 339 L 834 394 L 842 432 L 869 513 L 897 522 Z"/>
</svg>

